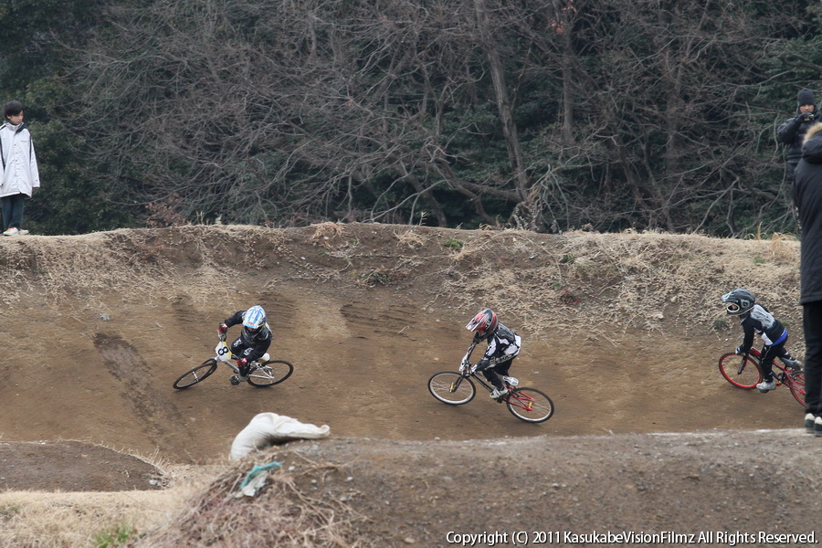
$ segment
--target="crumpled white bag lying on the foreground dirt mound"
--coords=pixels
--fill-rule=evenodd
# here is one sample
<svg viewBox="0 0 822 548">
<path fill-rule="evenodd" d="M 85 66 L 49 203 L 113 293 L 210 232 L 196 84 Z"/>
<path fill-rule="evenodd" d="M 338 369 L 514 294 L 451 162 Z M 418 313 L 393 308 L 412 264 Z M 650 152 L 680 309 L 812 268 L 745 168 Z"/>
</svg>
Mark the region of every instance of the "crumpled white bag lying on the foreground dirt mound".
<svg viewBox="0 0 822 548">
<path fill-rule="evenodd" d="M 291 439 L 328 437 L 330 431 L 331 427 L 328 425 L 317 427 L 301 423 L 290 416 L 259 413 L 231 442 L 231 459 L 239 460 L 252 451 L 269 448 Z"/>
</svg>

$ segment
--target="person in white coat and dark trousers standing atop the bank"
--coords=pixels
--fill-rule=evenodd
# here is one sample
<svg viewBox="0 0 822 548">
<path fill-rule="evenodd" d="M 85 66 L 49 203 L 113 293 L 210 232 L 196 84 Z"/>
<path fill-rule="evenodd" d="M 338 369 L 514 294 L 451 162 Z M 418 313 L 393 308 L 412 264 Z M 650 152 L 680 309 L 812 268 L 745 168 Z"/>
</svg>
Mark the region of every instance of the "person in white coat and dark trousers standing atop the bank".
<svg viewBox="0 0 822 548">
<path fill-rule="evenodd" d="M 23 105 L 12 100 L 3 109 L 5 122 L 0 126 L 0 162 L 3 179 L 0 207 L 3 211 L 3 236 L 28 234 L 23 229 L 23 203 L 40 187 L 37 155 L 31 133 L 23 123 Z"/>
</svg>

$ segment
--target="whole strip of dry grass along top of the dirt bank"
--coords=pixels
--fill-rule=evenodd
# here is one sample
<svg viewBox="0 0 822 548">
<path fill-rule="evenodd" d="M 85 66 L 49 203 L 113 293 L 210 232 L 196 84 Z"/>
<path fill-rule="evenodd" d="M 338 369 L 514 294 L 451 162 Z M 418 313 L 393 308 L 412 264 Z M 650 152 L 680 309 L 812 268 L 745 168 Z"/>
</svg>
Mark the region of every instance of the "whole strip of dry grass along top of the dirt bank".
<svg viewBox="0 0 822 548">
<path fill-rule="evenodd" d="M 723 240 L 657 232 L 554 236 L 378 227 L 195 226 L 19 238 L 0 242 L 0 290 L 6 303 L 39 293 L 56 307 L 81 303 L 103 313 L 104 297 L 111 293 L 150 304 L 174 299 L 176 279 L 184 275 L 187 297 L 196 303 L 225 297 L 237 269 L 261 269 L 279 256 L 296 258 L 293 278 L 361 285 L 362 273 L 399 271 L 392 263 L 401 259 L 387 248 L 383 263 L 364 254 L 357 236 L 367 235 L 369 242 L 377 240 L 374 246 L 394 240 L 412 250 L 406 259 L 416 259 L 415 250 L 427 252 L 402 266 L 404 276 L 439 269 L 441 286 L 432 290 L 470 309 L 478 302 L 499 309 L 531 332 L 590 332 L 608 324 L 623 331 L 659 331 L 671 321 L 684 330 L 704 329 L 722 320 L 719 296 L 734 287 L 753 290 L 777 317 L 800 324 L 798 242 L 787 235 Z M 442 253 L 431 258 L 435 247 L 427 244 L 435 239 Z M 321 246 L 321 254 L 344 264 L 315 264 L 306 259 L 304 245 Z M 342 277 L 342 270 L 355 276 Z M 384 280 L 369 275 L 365 285 L 377 285 L 374 281 Z"/>
</svg>

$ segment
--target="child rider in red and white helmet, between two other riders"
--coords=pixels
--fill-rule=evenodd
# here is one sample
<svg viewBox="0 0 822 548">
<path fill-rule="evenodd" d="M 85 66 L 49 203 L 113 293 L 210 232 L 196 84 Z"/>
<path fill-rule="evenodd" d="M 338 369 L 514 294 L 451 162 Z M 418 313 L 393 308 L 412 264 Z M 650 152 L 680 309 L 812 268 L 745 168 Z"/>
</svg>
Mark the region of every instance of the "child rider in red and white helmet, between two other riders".
<svg viewBox="0 0 822 548">
<path fill-rule="evenodd" d="M 497 314 L 490 309 L 479 311 L 465 329 L 474 333 L 475 343 L 482 340 L 488 342 L 488 349 L 479 360 L 477 371 L 481 371 L 494 386 L 490 393 L 491 398 L 500 399 L 509 392 L 502 384 L 502 377 L 508 375 L 514 358 L 520 353 L 522 339 L 517 333 L 502 325 L 497 320 Z"/>
</svg>

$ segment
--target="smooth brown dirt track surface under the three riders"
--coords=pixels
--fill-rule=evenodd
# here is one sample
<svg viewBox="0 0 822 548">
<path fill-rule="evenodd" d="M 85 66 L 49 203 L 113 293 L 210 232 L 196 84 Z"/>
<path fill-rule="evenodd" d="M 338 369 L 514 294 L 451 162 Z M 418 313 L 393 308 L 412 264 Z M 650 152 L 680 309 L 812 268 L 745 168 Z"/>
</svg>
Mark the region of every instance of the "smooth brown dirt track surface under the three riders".
<svg viewBox="0 0 822 548">
<path fill-rule="evenodd" d="M 562 331 L 529 332 L 515 307 L 498 307 L 501 321 L 522 334 L 522 354 L 512 372 L 522 385 L 541 388 L 554 399 L 557 412 L 548 423 L 521 424 L 482 397 L 459 409 L 443 406 L 427 394 L 427 378 L 456 368 L 469 343 L 463 325 L 488 301 L 458 294 L 444 281 L 483 275 L 479 263 L 499 258 L 505 240 L 481 258 L 460 264 L 438 242 L 484 235 L 419 229 L 427 243 L 415 249 L 399 244 L 397 227 L 346 230 L 337 238 L 342 244 L 312 240 L 312 228 L 284 235 L 252 231 L 254 237 L 269 238 L 272 251 L 264 264 L 240 264 L 228 273 L 227 267 L 216 265 L 222 271 L 213 273 L 213 279 L 204 271 L 205 261 L 195 257 L 197 248 L 233 249 L 230 237 L 213 228 L 216 237 L 225 239 L 208 242 L 195 235 L 176 242 L 183 238 L 173 230 L 154 231 L 150 245 L 157 266 L 163 269 L 167 261 L 174 267 L 166 272 L 170 279 L 161 280 L 158 294 L 141 293 L 140 279 L 127 279 L 123 271 L 123 287 L 112 282 L 94 300 L 83 295 L 79 300 L 67 295 L 48 299 L 37 276 L 24 273 L 20 290 L 25 292 L 5 307 L 0 327 L 15 341 L 2 365 L 9 379 L 0 386 L 0 399 L 6 402 L 0 423 L 4 441 L 89 440 L 146 454 L 159 449 L 165 458 L 187 462 L 225 455 L 237 432 L 262 411 L 329 424 L 335 436 L 388 439 L 779 428 L 795 427 L 801 416 L 786 390 L 744 392 L 718 376 L 718 356 L 739 338 L 733 326 L 725 332 L 697 326 L 699 333 L 688 325 L 683 309 L 655 329 L 608 322 L 587 332 L 571 329 L 575 317 L 590 317 L 597 310 L 585 295 L 575 308 L 556 300 L 546 312 L 568 325 Z M 116 242 L 96 246 L 128 241 L 127 231 L 115 236 Z M 545 259 L 526 264 L 546 260 L 548 246 L 558 245 L 557 237 L 529 237 L 542 247 L 519 251 L 514 259 L 537 253 Z M 48 238 L 0 245 L 9 253 L 37 257 L 39 247 L 53 245 L 44 240 Z M 63 238 L 59 245 L 70 248 L 81 241 Z M 351 241 L 357 246 L 349 256 L 333 256 Z M 220 248 L 214 253 L 225 256 Z M 385 285 L 370 286 L 365 278 L 369 272 L 384 273 Z M 93 272 L 68 270 L 65 275 L 81 278 Z M 590 282 L 577 284 L 579 289 L 572 289 L 581 293 Z M 522 294 L 509 297 L 504 287 L 496 287 L 498 280 L 488 285 L 493 300 L 500 300 L 500 293 L 503 300 L 527 299 Z M 272 353 L 294 363 L 295 374 L 283 385 L 256 389 L 229 385 L 225 370 L 202 385 L 172 389 L 176 376 L 212 355 L 216 324 L 256 302 L 269 311 L 276 339 Z"/>
</svg>

